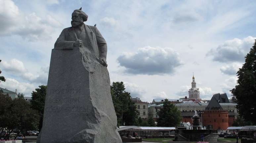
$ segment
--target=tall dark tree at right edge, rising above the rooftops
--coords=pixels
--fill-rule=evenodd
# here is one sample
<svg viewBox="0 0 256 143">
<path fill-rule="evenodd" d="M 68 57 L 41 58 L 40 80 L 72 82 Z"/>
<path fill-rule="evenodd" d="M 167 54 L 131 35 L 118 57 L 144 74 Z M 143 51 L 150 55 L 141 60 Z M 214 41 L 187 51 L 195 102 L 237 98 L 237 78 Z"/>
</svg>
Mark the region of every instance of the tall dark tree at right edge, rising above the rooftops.
<svg viewBox="0 0 256 143">
<path fill-rule="evenodd" d="M 256 124 L 256 40 L 236 74 L 238 84 L 231 90 L 237 100 L 236 108 L 245 121 Z"/>
</svg>

